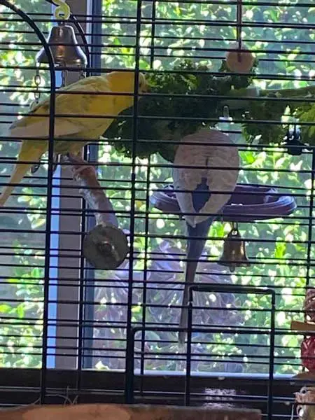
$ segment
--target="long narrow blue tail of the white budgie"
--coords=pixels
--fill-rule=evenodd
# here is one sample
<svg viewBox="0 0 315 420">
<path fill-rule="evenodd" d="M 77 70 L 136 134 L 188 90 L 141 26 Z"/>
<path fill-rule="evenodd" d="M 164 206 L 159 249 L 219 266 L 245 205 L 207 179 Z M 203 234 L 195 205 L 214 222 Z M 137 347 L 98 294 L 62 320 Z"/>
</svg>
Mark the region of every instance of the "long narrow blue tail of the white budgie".
<svg viewBox="0 0 315 420">
<path fill-rule="evenodd" d="M 183 302 L 181 309 L 181 319 L 179 321 L 180 328 L 187 328 L 188 323 L 188 288 L 190 284 L 195 281 L 195 274 L 197 271 L 198 261 L 204 250 L 204 245 L 207 241 L 207 235 L 209 228 L 214 221 L 214 217 L 209 217 L 205 221 L 198 223 L 193 228 L 189 223 L 187 225 L 187 262 L 186 262 L 186 273 L 185 273 L 185 286 L 183 292 Z M 186 339 L 186 331 L 179 331 L 179 343 L 183 344 Z"/>
</svg>

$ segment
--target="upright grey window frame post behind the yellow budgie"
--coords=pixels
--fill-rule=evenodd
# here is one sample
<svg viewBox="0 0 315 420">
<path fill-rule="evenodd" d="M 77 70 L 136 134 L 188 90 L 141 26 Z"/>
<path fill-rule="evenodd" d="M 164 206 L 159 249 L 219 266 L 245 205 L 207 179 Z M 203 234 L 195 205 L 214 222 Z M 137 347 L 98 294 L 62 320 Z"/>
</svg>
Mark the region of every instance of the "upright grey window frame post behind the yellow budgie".
<svg viewBox="0 0 315 420">
<path fill-rule="evenodd" d="M 101 3 L 102 0 L 69 0 L 67 1 L 71 8 L 71 13 L 73 15 L 94 15 L 95 3 Z M 93 45 L 93 31 L 94 31 L 94 22 L 81 22 L 83 30 L 88 35 L 87 43 L 89 44 L 90 57 L 91 57 L 91 66 L 94 66 L 94 47 Z M 102 24 L 101 24 L 102 25 Z M 78 36 L 79 38 L 79 36 Z M 68 83 L 71 83 L 75 80 L 78 80 L 78 72 L 69 72 L 67 76 Z M 85 153 L 85 158 L 88 160 L 93 160 L 92 155 L 97 155 L 97 146 L 88 146 L 87 153 Z M 81 214 L 83 209 L 83 199 L 78 197 L 78 187 L 75 186 L 72 180 L 69 180 L 69 172 L 65 167 L 60 169 L 60 183 L 59 187 L 66 188 L 66 197 L 63 197 L 60 194 L 59 197 L 59 233 L 58 233 L 58 248 L 59 251 L 74 249 L 77 254 L 76 257 L 66 257 L 66 265 L 72 267 L 58 267 L 57 268 L 57 279 L 78 279 L 78 281 L 71 281 L 71 286 L 62 286 L 61 283 L 57 286 L 57 302 L 61 304 L 56 304 L 56 328 L 55 328 L 55 349 L 59 350 L 59 354 L 55 355 L 55 368 L 56 369 L 76 369 L 78 365 L 85 367 L 85 357 L 84 355 L 79 354 L 77 349 L 88 347 L 85 343 L 83 336 L 86 336 L 85 328 L 83 328 L 83 319 L 85 318 L 85 310 L 83 302 L 86 300 L 87 292 L 85 290 L 85 279 L 86 281 L 94 280 L 94 271 L 88 269 L 88 266 L 85 265 L 83 258 L 80 257 L 81 251 L 81 236 L 76 233 L 71 234 L 71 232 L 83 232 L 84 228 L 90 229 L 93 227 L 93 216 L 87 216 Z M 67 179 L 68 178 L 68 179 Z M 70 187 L 70 188 L 69 188 Z M 71 204 L 69 205 L 69 197 Z M 74 216 L 73 214 L 62 213 L 67 208 L 78 209 L 78 214 Z M 73 212 L 72 212 L 73 213 Z M 60 233 L 65 232 L 65 233 Z M 84 276 L 84 280 L 80 280 Z M 87 290 L 92 290 L 93 288 L 89 287 Z M 83 302 L 80 302 L 80 299 L 83 297 Z M 91 298 L 91 296 L 89 296 Z M 62 304 L 62 301 L 71 301 L 75 303 L 71 304 Z M 92 306 L 92 305 L 90 305 Z M 93 306 L 92 306 L 93 310 Z M 91 314 L 89 310 L 89 318 L 92 318 L 94 312 Z M 66 325 L 64 322 L 58 323 L 58 319 L 62 321 L 68 321 L 71 325 Z M 74 322 L 73 322 L 74 321 Z M 76 325 L 78 323 L 78 325 Z M 90 330 L 91 328 L 88 328 Z M 87 335 L 90 335 L 90 331 L 87 332 Z M 87 337 L 86 337 L 87 339 Z M 64 357 L 66 356 L 66 357 Z M 92 366 L 91 366 L 92 367 Z"/>
</svg>

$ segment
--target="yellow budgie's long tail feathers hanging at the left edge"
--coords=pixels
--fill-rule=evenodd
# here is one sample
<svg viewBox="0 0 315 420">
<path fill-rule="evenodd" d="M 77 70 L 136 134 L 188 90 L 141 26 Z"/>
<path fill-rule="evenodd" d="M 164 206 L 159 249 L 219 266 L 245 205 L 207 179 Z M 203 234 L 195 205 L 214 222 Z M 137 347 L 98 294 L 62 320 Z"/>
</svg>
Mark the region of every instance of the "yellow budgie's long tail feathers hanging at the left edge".
<svg viewBox="0 0 315 420">
<path fill-rule="evenodd" d="M 23 141 L 22 146 L 20 148 L 20 153 L 18 155 L 18 161 L 13 169 L 13 174 L 10 177 L 10 181 L 8 181 L 8 186 L 4 188 L 0 195 L 0 207 L 3 207 L 6 204 L 6 200 L 10 197 L 11 193 L 13 192 L 15 185 L 18 184 L 27 172 L 34 166 L 34 162 L 41 159 L 41 155 L 45 153 L 45 142 L 43 147 L 40 146 L 40 142 L 38 141 L 38 148 L 29 148 L 28 141 Z M 25 162 L 25 163 L 20 163 Z M 29 163 L 27 163 L 29 162 Z"/>
</svg>

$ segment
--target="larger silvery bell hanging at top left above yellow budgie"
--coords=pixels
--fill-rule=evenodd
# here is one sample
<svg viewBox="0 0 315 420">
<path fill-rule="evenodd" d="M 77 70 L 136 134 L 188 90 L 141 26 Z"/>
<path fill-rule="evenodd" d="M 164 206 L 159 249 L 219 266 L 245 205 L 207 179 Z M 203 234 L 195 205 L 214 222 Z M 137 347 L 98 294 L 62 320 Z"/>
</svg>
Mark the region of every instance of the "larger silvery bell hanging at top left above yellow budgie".
<svg viewBox="0 0 315 420">
<path fill-rule="evenodd" d="M 86 55 L 78 45 L 76 34 L 70 25 L 65 25 L 64 22 L 61 22 L 58 26 L 52 27 L 47 43 L 50 46 L 56 66 L 80 68 L 86 66 Z M 43 48 L 37 53 L 36 61 L 38 63 L 48 63 L 48 58 Z"/>
</svg>

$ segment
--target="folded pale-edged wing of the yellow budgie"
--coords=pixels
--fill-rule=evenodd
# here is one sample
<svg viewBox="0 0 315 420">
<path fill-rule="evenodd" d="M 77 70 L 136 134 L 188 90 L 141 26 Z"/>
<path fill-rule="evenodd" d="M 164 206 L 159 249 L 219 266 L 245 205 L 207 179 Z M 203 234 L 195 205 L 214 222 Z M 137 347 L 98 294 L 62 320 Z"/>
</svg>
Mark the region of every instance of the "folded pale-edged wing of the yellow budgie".
<svg viewBox="0 0 315 420">
<path fill-rule="evenodd" d="M 69 94 L 67 92 L 78 92 Z M 101 118 L 90 118 L 92 115 L 102 116 L 104 103 L 111 109 L 113 95 L 97 93 L 111 92 L 105 78 L 94 76 L 79 80 L 68 87 L 55 99 L 55 137 L 75 136 L 80 132 L 102 125 Z M 39 115 L 38 115 L 39 114 Z M 62 116 L 64 114 L 64 116 Z M 45 99 L 32 109 L 29 115 L 10 125 L 10 136 L 31 139 L 45 139 L 49 136 L 50 99 Z M 106 113 L 104 115 L 106 118 Z"/>
</svg>

